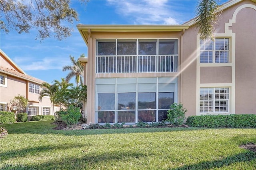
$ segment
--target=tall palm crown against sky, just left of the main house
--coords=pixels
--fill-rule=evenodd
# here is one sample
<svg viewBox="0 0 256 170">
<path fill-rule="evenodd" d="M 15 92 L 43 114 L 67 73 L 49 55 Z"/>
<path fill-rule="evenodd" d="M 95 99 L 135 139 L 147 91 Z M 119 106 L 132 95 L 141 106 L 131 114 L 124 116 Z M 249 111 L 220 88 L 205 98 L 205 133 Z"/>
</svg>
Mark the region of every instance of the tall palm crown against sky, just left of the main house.
<svg viewBox="0 0 256 170">
<path fill-rule="evenodd" d="M 81 85 L 83 84 L 84 67 L 79 63 L 79 61 L 76 61 L 74 57 L 71 55 L 69 57 L 72 65 L 64 66 L 62 71 L 70 70 L 70 73 L 66 76 L 66 81 L 69 82 L 72 77 L 75 77 L 76 87 L 78 87 L 79 82 Z M 82 54 L 80 57 L 85 57 L 85 55 Z"/>
</svg>

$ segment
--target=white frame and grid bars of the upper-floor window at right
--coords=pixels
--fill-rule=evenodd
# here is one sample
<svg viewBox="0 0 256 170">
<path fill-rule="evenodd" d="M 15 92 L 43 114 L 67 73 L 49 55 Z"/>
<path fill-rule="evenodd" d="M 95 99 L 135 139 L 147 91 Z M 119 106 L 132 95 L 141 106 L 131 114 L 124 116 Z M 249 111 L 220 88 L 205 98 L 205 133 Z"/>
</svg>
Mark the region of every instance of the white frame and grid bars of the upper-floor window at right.
<svg viewBox="0 0 256 170">
<path fill-rule="evenodd" d="M 228 49 L 222 49 L 222 50 L 217 50 L 216 49 L 216 40 L 220 40 L 220 39 L 224 39 L 224 42 L 225 42 L 225 40 L 226 39 L 228 39 L 228 43 L 226 44 L 225 43 L 225 45 L 226 45 L 226 47 L 228 48 Z M 203 41 L 204 43 L 203 44 L 201 44 L 201 41 Z M 209 42 L 209 44 L 210 43 L 212 43 L 212 49 L 205 49 L 205 46 L 207 45 L 206 44 L 206 42 Z M 202 40 L 202 39 L 200 39 L 200 63 L 230 63 L 231 62 L 231 56 L 230 56 L 230 52 L 231 52 L 231 50 L 230 50 L 230 46 L 231 46 L 231 44 L 230 44 L 230 42 L 231 42 L 231 40 L 230 40 L 230 38 L 229 37 L 215 37 L 215 41 L 212 41 L 212 40 Z M 201 49 L 201 47 L 204 47 L 204 49 Z M 208 57 L 208 62 L 201 62 L 201 53 L 202 52 L 206 52 L 206 53 L 210 53 L 210 52 L 212 52 L 212 62 L 209 62 L 209 59 L 210 59 L 210 57 Z M 216 52 L 227 52 L 228 53 L 228 56 L 227 57 L 224 57 L 224 61 L 225 61 L 225 59 L 227 58 L 228 59 L 228 62 L 216 62 Z M 203 60 L 205 59 L 205 58 L 207 58 L 207 56 L 205 57 L 202 57 L 203 58 Z M 221 58 L 221 57 L 220 57 Z M 219 60 L 220 60 L 220 58 L 219 58 Z"/>
</svg>

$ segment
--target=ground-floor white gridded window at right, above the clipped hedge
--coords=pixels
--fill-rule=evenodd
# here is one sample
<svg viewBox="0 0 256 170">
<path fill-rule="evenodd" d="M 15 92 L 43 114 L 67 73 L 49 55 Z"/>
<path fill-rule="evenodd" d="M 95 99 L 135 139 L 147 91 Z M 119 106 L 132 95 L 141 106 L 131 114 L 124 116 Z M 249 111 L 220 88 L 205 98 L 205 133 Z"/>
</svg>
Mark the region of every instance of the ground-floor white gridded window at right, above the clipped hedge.
<svg viewBox="0 0 256 170">
<path fill-rule="evenodd" d="M 200 113 L 228 113 L 229 88 L 200 88 Z"/>
</svg>

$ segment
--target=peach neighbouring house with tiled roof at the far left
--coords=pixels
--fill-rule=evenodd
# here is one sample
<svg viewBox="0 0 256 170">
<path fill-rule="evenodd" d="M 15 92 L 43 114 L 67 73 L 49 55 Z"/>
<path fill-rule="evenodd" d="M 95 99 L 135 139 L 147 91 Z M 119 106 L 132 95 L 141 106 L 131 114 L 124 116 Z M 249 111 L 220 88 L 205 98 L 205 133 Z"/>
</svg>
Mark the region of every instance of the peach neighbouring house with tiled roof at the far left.
<svg viewBox="0 0 256 170">
<path fill-rule="evenodd" d="M 0 55 L 0 111 L 13 111 L 10 100 L 19 94 L 28 99 L 28 116 L 54 115 L 49 97 L 38 100 L 44 81 L 27 75 L 1 49 Z M 59 106 L 55 105 L 54 111 L 59 111 Z"/>
</svg>

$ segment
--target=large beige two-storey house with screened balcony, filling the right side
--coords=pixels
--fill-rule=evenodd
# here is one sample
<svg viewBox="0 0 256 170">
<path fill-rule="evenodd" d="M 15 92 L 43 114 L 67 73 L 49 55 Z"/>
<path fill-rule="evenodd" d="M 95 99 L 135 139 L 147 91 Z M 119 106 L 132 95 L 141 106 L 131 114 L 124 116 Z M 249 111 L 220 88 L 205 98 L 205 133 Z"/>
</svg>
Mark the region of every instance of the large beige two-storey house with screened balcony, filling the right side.
<svg viewBox="0 0 256 170">
<path fill-rule="evenodd" d="M 83 25 L 88 123 L 159 122 L 170 105 L 191 115 L 256 114 L 256 1 L 222 7 L 215 41 L 182 25 Z"/>
</svg>

